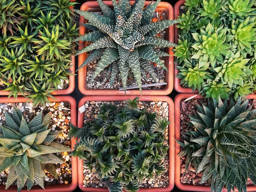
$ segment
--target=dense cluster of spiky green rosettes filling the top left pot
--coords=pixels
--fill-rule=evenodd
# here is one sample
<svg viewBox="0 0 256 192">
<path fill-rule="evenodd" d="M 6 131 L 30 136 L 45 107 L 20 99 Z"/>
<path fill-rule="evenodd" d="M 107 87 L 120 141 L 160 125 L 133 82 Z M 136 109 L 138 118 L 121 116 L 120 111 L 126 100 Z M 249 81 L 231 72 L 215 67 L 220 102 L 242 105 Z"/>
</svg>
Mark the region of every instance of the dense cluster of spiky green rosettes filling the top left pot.
<svg viewBox="0 0 256 192">
<path fill-rule="evenodd" d="M 79 36 L 70 0 L 0 1 L 0 76 L 9 96 L 27 95 L 35 105 L 68 80 Z"/>
</svg>

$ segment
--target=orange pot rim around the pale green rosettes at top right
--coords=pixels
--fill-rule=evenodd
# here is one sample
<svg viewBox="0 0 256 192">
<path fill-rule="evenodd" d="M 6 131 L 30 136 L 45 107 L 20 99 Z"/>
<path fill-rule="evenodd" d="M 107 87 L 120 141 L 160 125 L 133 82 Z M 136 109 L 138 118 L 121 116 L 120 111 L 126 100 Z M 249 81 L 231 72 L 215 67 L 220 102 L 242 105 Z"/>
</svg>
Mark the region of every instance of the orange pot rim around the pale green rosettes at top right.
<svg viewBox="0 0 256 192">
<path fill-rule="evenodd" d="M 185 2 L 186 2 L 185 0 L 179 0 L 175 4 L 174 6 L 175 19 L 177 19 L 178 16 L 180 15 L 180 7 L 183 6 Z M 178 28 L 176 26 L 177 24 L 175 24 L 175 27 L 174 27 L 174 42 L 175 44 L 178 44 L 179 36 L 178 36 Z M 193 93 L 193 90 L 191 88 L 180 86 L 180 79 L 176 77 L 179 73 L 179 70 L 177 70 L 176 66 L 177 66 L 177 63 L 175 64 L 175 67 L 174 67 L 174 89 L 179 93 Z M 198 90 L 195 90 L 194 93 L 198 93 Z"/>
</svg>

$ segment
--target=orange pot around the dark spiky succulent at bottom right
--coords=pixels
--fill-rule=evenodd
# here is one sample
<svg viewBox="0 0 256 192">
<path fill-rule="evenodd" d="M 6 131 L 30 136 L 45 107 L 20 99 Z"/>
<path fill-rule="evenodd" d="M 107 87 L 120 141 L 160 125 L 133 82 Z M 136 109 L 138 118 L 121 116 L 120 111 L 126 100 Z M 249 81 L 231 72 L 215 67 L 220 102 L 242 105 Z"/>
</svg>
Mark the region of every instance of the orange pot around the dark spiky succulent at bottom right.
<svg viewBox="0 0 256 192">
<path fill-rule="evenodd" d="M 187 99 L 189 97 L 195 96 L 196 94 L 193 93 L 181 93 L 175 97 L 175 140 L 180 141 L 180 101 L 182 99 Z M 256 99 L 256 95 L 248 95 L 246 96 L 247 99 Z M 203 96 L 196 96 L 193 99 L 203 99 Z M 197 191 L 197 192 L 210 192 L 210 186 L 204 185 L 190 185 L 190 184 L 183 184 L 180 182 L 180 157 L 178 154 L 180 152 L 180 145 L 175 142 L 175 185 L 177 188 L 184 190 L 184 191 Z M 235 189 L 238 192 L 237 189 Z M 252 192 L 256 191 L 256 186 L 248 185 L 247 191 Z M 222 192 L 227 192 L 226 189 L 223 189 Z"/>
</svg>

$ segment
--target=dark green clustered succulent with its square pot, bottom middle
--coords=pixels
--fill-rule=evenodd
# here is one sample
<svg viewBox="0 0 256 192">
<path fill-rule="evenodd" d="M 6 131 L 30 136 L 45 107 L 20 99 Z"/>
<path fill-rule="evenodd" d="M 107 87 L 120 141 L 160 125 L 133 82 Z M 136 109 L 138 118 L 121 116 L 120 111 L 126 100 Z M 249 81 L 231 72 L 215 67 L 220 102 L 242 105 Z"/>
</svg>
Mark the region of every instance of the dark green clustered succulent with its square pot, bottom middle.
<svg viewBox="0 0 256 192">
<path fill-rule="evenodd" d="M 155 155 L 152 155 L 152 154 L 146 152 L 146 151 L 150 151 L 151 149 L 149 149 L 149 148 L 146 149 L 147 147 L 146 148 L 143 147 L 143 144 L 140 145 L 139 140 L 138 140 L 137 144 L 134 144 L 134 142 L 132 142 L 128 145 L 131 145 L 131 147 L 133 148 L 130 150 L 138 151 L 138 152 L 139 151 L 141 152 L 141 150 L 143 150 L 143 148 L 145 148 L 145 154 L 147 156 L 145 159 L 148 159 L 147 164 L 148 164 L 148 166 L 150 165 L 150 167 L 151 167 L 150 169 L 152 169 L 151 172 L 147 172 L 147 169 L 149 169 L 148 166 L 145 166 L 145 170 L 140 173 L 138 172 L 138 170 L 140 170 L 140 166 L 138 166 L 138 167 L 131 166 L 131 172 L 132 172 L 131 174 L 128 174 L 127 169 L 125 168 L 126 167 L 125 164 L 123 165 L 123 167 L 120 167 L 120 169 L 115 168 L 115 166 L 114 166 L 115 163 L 118 163 L 118 165 L 121 166 L 121 164 L 120 164 L 121 161 L 125 160 L 124 159 L 125 153 L 128 153 L 127 149 L 125 149 L 125 148 L 128 147 L 128 145 L 126 145 L 126 147 L 123 146 L 121 148 L 119 148 L 120 146 L 117 147 L 116 145 L 113 145 L 112 139 L 114 139 L 114 136 L 108 137 L 110 139 L 108 144 L 106 144 L 105 147 L 102 146 L 104 148 L 105 152 L 103 151 L 102 153 L 100 153 L 100 154 L 102 154 L 102 157 L 105 158 L 108 156 L 109 153 L 112 153 L 111 149 L 114 149 L 116 147 L 119 148 L 120 159 L 119 159 L 119 157 L 118 158 L 116 157 L 116 153 L 114 152 L 113 158 L 109 159 L 109 163 L 111 164 L 111 166 L 108 166 L 108 168 L 104 169 L 103 166 L 100 166 L 98 164 L 100 160 L 99 161 L 96 160 L 95 158 L 91 157 L 90 154 L 88 154 L 88 156 L 87 155 L 86 156 L 87 157 L 90 156 L 92 162 L 94 162 L 94 160 L 96 160 L 97 163 L 94 164 L 95 166 L 97 166 L 97 167 L 95 167 L 96 169 L 102 169 L 102 170 L 104 169 L 107 173 L 108 172 L 107 170 L 109 168 L 111 168 L 113 165 L 113 169 L 116 169 L 116 171 L 121 171 L 124 173 L 124 177 L 122 177 L 122 175 L 120 175 L 121 172 L 118 175 L 116 173 L 116 171 L 114 171 L 114 170 L 112 170 L 112 171 L 114 171 L 114 172 L 112 172 L 112 174 L 111 174 L 111 172 L 108 172 L 108 174 L 107 174 L 109 177 L 110 177 L 110 175 L 112 175 L 111 176 L 112 179 L 113 179 L 113 177 L 115 177 L 116 181 L 121 181 L 122 184 L 118 183 L 118 187 L 116 188 L 116 191 L 120 191 L 121 190 L 120 188 L 122 188 L 122 187 L 126 187 L 125 189 L 128 191 L 130 191 L 130 190 L 137 191 L 140 187 L 142 187 L 139 190 L 141 192 L 142 191 L 169 192 L 174 187 L 174 175 L 173 175 L 174 170 L 172 169 L 172 167 L 174 166 L 174 160 L 173 160 L 173 157 L 174 157 L 174 140 L 173 140 L 174 116 L 172 115 L 172 113 L 173 113 L 172 99 L 170 99 L 169 97 L 166 97 L 166 96 L 163 96 L 161 98 L 159 98 L 157 96 L 142 96 L 139 99 L 139 102 L 138 102 L 138 98 L 136 98 L 135 100 L 130 100 L 126 103 L 123 102 L 127 99 L 134 99 L 134 98 L 135 98 L 135 96 L 114 96 L 114 97 L 113 96 L 86 96 L 86 97 L 84 97 L 79 102 L 79 108 L 84 108 L 85 111 L 83 110 L 84 112 L 79 113 L 78 126 L 83 127 L 84 125 L 86 125 L 86 127 L 81 128 L 81 129 L 73 127 L 73 130 L 70 131 L 70 134 L 75 137 L 81 136 L 80 133 L 86 134 L 86 133 L 88 133 L 89 130 L 96 128 L 96 125 L 99 125 L 99 127 L 101 127 L 100 124 L 103 121 L 105 121 L 104 119 L 106 118 L 109 120 L 109 121 L 107 120 L 108 121 L 107 124 L 110 127 L 116 126 L 119 128 L 118 129 L 114 128 L 113 129 L 114 132 L 111 132 L 111 133 L 108 132 L 108 130 L 109 130 L 108 128 L 107 129 L 104 128 L 105 134 L 108 133 L 108 134 L 114 135 L 115 132 L 119 130 L 119 137 L 120 137 L 120 142 L 122 143 L 122 145 L 126 145 L 124 140 L 127 140 L 128 138 L 132 137 L 132 135 L 137 136 L 136 138 L 138 138 L 141 142 L 144 141 L 144 139 L 145 139 L 144 136 L 145 136 L 148 138 L 146 142 L 149 142 L 147 145 L 150 146 L 149 148 L 151 148 L 152 147 L 151 140 L 155 137 L 155 134 L 159 135 L 158 142 L 157 142 L 157 140 L 155 140 L 155 142 L 159 143 L 161 141 L 159 143 L 159 147 L 167 149 L 167 146 L 169 145 L 169 149 L 168 149 L 168 154 L 165 154 L 165 152 L 163 152 L 165 150 L 163 150 L 163 151 L 160 150 L 157 152 L 157 151 L 155 151 L 155 148 L 153 147 L 153 151 L 155 151 L 154 154 L 159 153 L 157 156 L 159 156 L 159 163 L 160 163 L 160 164 L 158 164 L 158 163 L 155 164 L 156 172 L 154 172 L 153 175 L 152 175 L 153 169 L 151 167 L 152 159 L 150 160 L 150 158 L 155 157 Z M 125 108 L 125 106 L 127 106 L 127 107 Z M 121 113 L 119 113 L 119 115 L 118 115 L 117 113 L 120 110 L 121 110 Z M 156 114 L 155 115 L 151 114 L 154 111 L 156 112 Z M 140 114 L 140 113 L 145 114 L 145 115 L 144 116 L 142 115 L 143 117 L 139 117 L 140 115 L 138 116 L 138 114 Z M 126 119 L 122 118 L 122 114 L 127 114 Z M 155 120 L 156 122 L 151 121 L 152 118 L 155 119 L 156 116 L 157 116 L 157 119 Z M 161 119 L 158 119 L 158 118 L 161 118 Z M 169 124 L 166 120 L 163 120 L 165 118 L 167 120 L 169 120 L 171 123 Z M 113 119 L 115 119 L 115 122 L 113 122 Z M 118 119 L 124 123 L 123 124 L 124 126 L 122 126 L 122 122 L 120 122 Z M 138 122 L 143 122 L 143 121 L 144 121 L 144 123 L 140 124 L 141 126 L 138 126 L 139 124 L 134 124 L 134 122 L 138 123 Z M 151 123 L 147 124 L 146 122 L 147 123 L 151 122 L 152 124 Z M 161 123 L 159 124 L 159 122 L 161 122 Z M 116 125 L 115 125 L 115 123 L 116 123 Z M 117 124 L 120 124 L 120 126 Z M 168 126 L 168 128 L 166 128 L 166 125 L 168 125 L 168 124 L 169 124 L 169 126 Z M 93 126 L 93 125 L 95 125 L 95 126 Z M 127 129 L 126 129 L 126 125 L 127 125 Z M 155 127 L 155 128 L 157 128 L 159 126 L 162 127 L 161 133 L 158 132 L 158 131 L 160 131 L 160 129 L 157 129 L 158 130 L 157 132 L 154 132 L 152 130 L 149 131 L 149 128 L 151 127 L 151 125 L 152 125 L 152 130 L 155 130 L 153 127 Z M 135 129 L 136 129 L 136 133 L 139 132 L 138 135 L 136 133 L 131 134 L 131 132 L 134 132 Z M 125 135 L 125 132 L 127 132 L 127 135 Z M 153 134 L 153 132 L 154 132 L 154 134 Z M 116 134 L 117 134 L 117 132 L 116 132 Z M 124 134 L 124 136 L 122 134 Z M 88 144 L 87 142 L 89 142 L 89 140 L 90 140 L 90 142 L 93 142 L 93 143 L 94 143 L 94 141 L 98 142 L 100 140 L 101 134 L 95 134 L 95 136 L 96 135 L 98 135 L 99 137 L 98 138 L 95 137 L 95 140 L 90 140 L 91 137 L 94 137 L 93 135 L 88 136 L 87 139 L 85 137 L 81 137 L 80 143 L 77 144 L 77 148 L 75 151 L 73 151 L 73 154 L 75 156 L 82 157 L 82 156 L 80 156 L 80 154 L 84 153 L 85 151 L 82 153 L 80 153 L 79 151 L 84 150 L 83 146 L 88 147 L 88 150 L 90 151 L 90 149 L 89 149 L 90 146 L 87 145 Z M 136 138 L 134 137 L 134 139 L 136 139 Z M 102 139 L 105 140 L 104 138 L 102 138 Z M 103 143 L 105 143 L 105 142 L 103 142 Z M 107 147 L 107 145 L 109 145 L 109 144 L 111 145 L 110 148 Z M 153 152 L 153 151 L 151 151 L 151 152 Z M 122 154 L 122 152 L 124 154 Z M 84 154 L 86 154 L 86 152 Z M 142 153 L 138 153 L 138 154 L 135 153 L 135 154 L 140 156 L 140 154 L 142 154 Z M 137 157 L 139 158 L 139 156 L 137 156 Z M 166 158 L 163 162 L 164 156 L 166 156 Z M 134 158 L 136 158 L 136 157 L 134 156 Z M 84 162 L 83 162 L 83 160 L 78 161 L 79 188 L 82 191 L 88 191 L 88 192 L 89 191 L 90 192 L 97 192 L 97 191 L 98 192 L 99 191 L 108 192 L 108 188 L 106 188 L 106 187 L 109 186 L 109 183 L 112 183 L 113 180 L 105 180 L 105 182 L 104 182 L 104 180 L 100 180 L 99 177 L 104 176 L 104 174 L 105 174 L 105 173 L 103 173 L 104 171 L 102 173 L 100 173 L 100 175 L 99 175 L 99 172 L 97 172 L 95 169 L 93 169 L 93 171 L 90 172 L 89 168 L 92 168 L 94 166 L 93 166 L 93 164 L 90 164 L 89 162 L 90 162 L 89 159 L 87 159 Z M 125 160 L 125 162 L 127 162 L 128 164 L 131 163 L 130 160 L 128 160 L 128 161 Z M 140 164 L 140 163 L 137 162 L 137 164 Z M 158 164 L 158 166 L 157 166 L 157 164 Z M 159 167 L 159 165 L 161 165 L 163 167 L 160 168 L 161 166 Z M 163 172 L 163 170 L 166 169 L 164 167 L 169 168 L 168 172 L 165 171 L 164 173 L 162 173 L 162 175 L 160 175 L 160 177 L 157 177 L 156 176 L 157 170 L 159 173 Z M 145 178 L 145 177 L 149 176 L 148 174 L 152 178 L 150 178 L 150 179 Z M 143 178 L 143 175 L 145 176 L 144 178 Z M 137 184 L 137 179 L 143 180 L 141 182 L 140 186 L 138 186 L 138 184 Z M 128 184 L 129 181 L 131 181 L 130 184 Z M 124 184 L 125 182 L 127 182 L 126 185 Z M 148 187 L 150 187 L 151 189 Z"/>
</svg>

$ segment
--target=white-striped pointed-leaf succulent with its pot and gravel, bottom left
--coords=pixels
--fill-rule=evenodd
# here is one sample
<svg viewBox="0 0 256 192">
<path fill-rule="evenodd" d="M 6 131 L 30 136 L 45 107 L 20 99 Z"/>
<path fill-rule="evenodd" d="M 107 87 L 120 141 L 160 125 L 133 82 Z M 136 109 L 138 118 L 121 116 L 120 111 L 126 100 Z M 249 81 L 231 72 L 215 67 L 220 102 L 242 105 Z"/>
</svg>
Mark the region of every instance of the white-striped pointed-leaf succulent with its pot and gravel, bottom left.
<svg viewBox="0 0 256 192">
<path fill-rule="evenodd" d="M 76 124 L 76 101 L 56 96 L 45 107 L 33 108 L 27 100 L 0 99 L 0 190 L 72 192 L 77 158 L 69 155 L 75 140 L 67 134 L 70 121 Z"/>
</svg>

